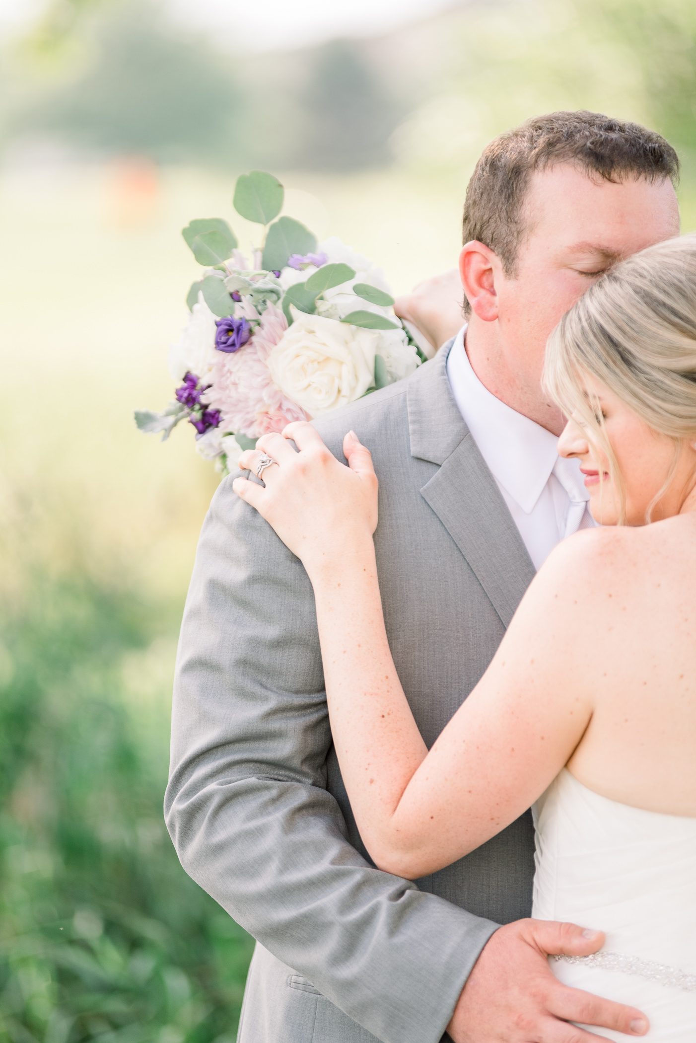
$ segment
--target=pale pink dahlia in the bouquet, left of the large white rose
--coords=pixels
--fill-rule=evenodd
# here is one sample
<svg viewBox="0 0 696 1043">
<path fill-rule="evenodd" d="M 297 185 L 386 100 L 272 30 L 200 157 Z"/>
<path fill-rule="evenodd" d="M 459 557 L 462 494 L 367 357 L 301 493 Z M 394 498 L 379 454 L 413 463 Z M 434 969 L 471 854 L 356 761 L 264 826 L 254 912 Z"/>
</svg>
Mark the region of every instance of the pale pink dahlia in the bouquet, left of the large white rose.
<svg viewBox="0 0 696 1043">
<path fill-rule="evenodd" d="M 201 398 L 220 410 L 221 431 L 259 438 L 270 431 L 282 431 L 292 420 L 306 420 L 304 410 L 273 383 L 267 365 L 271 348 L 287 329 L 283 313 L 269 305 L 251 340 L 233 354 L 218 353 L 206 377 L 213 386 Z"/>
</svg>

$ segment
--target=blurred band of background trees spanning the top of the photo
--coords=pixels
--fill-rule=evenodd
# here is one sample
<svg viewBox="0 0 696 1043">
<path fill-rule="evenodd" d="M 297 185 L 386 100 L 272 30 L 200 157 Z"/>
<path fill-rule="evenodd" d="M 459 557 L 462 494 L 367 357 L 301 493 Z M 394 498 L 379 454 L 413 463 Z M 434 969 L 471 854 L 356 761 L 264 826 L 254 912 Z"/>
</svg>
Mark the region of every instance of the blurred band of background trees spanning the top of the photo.
<svg viewBox="0 0 696 1043">
<path fill-rule="evenodd" d="M 350 173 L 396 155 L 461 176 L 527 116 L 594 108 L 666 135 L 696 181 L 693 0 L 470 2 L 380 40 L 271 54 L 225 51 L 165 10 L 49 3 L 24 44 L 44 81 L 8 64 L 5 138 L 42 131 L 92 154 L 238 170 Z"/>
</svg>

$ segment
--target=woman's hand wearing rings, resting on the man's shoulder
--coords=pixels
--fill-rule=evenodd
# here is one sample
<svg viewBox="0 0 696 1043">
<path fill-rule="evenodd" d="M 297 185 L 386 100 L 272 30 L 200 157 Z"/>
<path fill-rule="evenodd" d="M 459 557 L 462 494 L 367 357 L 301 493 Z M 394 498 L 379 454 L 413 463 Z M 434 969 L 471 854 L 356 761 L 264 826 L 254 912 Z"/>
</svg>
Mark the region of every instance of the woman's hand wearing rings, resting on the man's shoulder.
<svg viewBox="0 0 696 1043">
<path fill-rule="evenodd" d="M 347 467 L 312 425 L 289 423 L 282 435 L 263 435 L 255 450 L 240 457 L 239 467 L 254 474 L 264 453 L 274 461 L 260 475 L 266 488 L 246 478 L 232 483 L 234 492 L 256 508 L 310 576 L 337 557 L 371 548 L 377 527 L 377 477 L 370 451 L 351 431 L 343 452 Z"/>
</svg>

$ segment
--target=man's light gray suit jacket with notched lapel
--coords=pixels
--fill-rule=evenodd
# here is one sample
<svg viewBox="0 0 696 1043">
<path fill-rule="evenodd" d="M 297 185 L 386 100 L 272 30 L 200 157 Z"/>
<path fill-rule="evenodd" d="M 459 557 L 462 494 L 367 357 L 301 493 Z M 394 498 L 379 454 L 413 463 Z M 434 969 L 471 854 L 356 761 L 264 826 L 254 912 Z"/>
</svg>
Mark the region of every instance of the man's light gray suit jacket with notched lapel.
<svg viewBox="0 0 696 1043">
<path fill-rule="evenodd" d="M 535 572 L 447 353 L 317 423 L 339 459 L 351 428 L 372 451 L 387 631 L 428 746 Z M 312 586 L 231 478 L 183 616 L 166 815 L 187 872 L 257 939 L 240 1043 L 437 1043 L 490 936 L 530 913 L 528 812 L 417 883 L 372 866 L 331 745 Z"/>
</svg>

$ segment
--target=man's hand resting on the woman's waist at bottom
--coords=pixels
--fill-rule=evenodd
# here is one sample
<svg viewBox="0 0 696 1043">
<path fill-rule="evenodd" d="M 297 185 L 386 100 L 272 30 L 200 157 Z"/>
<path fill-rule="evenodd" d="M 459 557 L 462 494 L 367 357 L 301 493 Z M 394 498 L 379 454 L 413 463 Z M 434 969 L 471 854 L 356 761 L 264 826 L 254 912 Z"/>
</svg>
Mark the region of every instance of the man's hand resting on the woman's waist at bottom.
<svg viewBox="0 0 696 1043">
<path fill-rule="evenodd" d="M 547 954 L 587 956 L 603 941 L 600 931 L 551 920 L 500 927 L 474 964 L 447 1032 L 454 1043 L 590 1043 L 602 1028 L 645 1035 L 640 1011 L 569 989 L 551 972 Z M 571 1021 L 597 1025 L 599 1034 Z"/>
</svg>

